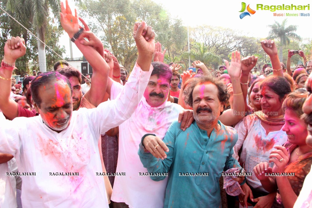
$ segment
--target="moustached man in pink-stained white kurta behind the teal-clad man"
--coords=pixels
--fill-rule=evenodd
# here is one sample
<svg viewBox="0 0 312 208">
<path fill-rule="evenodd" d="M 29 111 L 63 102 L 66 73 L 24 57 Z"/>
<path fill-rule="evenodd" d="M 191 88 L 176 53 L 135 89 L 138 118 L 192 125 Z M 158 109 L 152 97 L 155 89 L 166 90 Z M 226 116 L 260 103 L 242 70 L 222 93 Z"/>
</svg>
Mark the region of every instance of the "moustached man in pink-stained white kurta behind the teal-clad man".
<svg viewBox="0 0 312 208">
<path fill-rule="evenodd" d="M 111 197 L 115 202 L 114 207 L 163 207 L 163 203 L 160 202 L 164 201 L 167 181 L 157 182 L 148 176 L 142 176 L 148 171 L 140 162 L 138 145 L 144 134 L 156 132 L 163 138 L 183 108 L 178 104 L 167 102 L 172 79 L 169 66 L 159 61 L 152 62 L 152 65 L 154 70 L 144 91 L 144 97 L 131 118 L 119 126 L 116 172 L 127 173 L 125 176 L 115 177 Z M 110 90 L 110 98 L 116 99 L 124 87 L 115 82 Z"/>
</svg>

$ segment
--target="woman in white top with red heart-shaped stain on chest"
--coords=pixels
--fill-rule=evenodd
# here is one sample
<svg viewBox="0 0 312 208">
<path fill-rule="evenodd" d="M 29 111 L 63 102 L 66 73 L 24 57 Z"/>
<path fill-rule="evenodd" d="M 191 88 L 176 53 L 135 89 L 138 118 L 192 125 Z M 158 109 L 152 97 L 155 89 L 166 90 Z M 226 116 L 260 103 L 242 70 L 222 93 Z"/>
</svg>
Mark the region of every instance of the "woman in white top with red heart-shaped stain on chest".
<svg viewBox="0 0 312 208">
<path fill-rule="evenodd" d="M 234 146 L 234 156 L 238 158 L 238 151 L 242 147 L 239 162 L 246 172 L 253 172 L 259 162 L 268 162 L 270 152 L 275 145 L 282 145 L 287 141 L 286 133 L 281 129 L 285 124 L 282 103 L 290 93 L 289 83 L 280 76 L 270 76 L 260 84 L 260 105 L 262 111 L 246 116 L 238 128 L 238 140 Z M 247 177 L 247 184 L 252 194 L 240 195 L 240 204 L 246 204 L 247 198 L 255 197 L 256 201 L 272 202 L 275 194 L 268 195 L 261 182 L 254 174 Z M 253 196 L 253 197 L 252 197 Z M 262 198 L 258 198 L 265 196 Z M 257 198 L 257 199 L 256 199 Z M 254 202 L 248 201 L 255 205 Z"/>
</svg>

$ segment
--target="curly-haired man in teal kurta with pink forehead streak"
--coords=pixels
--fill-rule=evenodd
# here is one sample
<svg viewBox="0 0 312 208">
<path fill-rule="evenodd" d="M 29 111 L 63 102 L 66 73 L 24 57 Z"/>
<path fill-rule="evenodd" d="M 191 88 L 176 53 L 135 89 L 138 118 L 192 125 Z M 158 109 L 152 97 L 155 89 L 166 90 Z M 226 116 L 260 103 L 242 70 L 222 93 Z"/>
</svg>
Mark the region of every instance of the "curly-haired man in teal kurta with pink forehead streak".
<svg viewBox="0 0 312 208">
<path fill-rule="evenodd" d="M 138 153 L 154 181 L 166 177 L 155 173 L 169 173 L 164 207 L 220 207 L 222 171 L 241 168 L 232 157 L 236 130 L 218 121 L 228 94 L 222 83 L 208 77 L 196 78 L 189 89 L 192 94 L 185 99 L 193 105 L 195 121 L 186 131 L 173 122 L 163 141 L 144 135 Z"/>
</svg>

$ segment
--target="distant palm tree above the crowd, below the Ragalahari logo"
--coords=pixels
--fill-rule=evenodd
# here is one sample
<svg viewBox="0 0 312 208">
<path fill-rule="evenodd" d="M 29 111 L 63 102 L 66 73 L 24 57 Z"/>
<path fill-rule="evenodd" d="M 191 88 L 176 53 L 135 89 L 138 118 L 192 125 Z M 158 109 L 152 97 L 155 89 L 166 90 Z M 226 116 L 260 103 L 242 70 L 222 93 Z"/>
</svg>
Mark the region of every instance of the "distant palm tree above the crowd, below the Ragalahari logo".
<svg viewBox="0 0 312 208">
<path fill-rule="evenodd" d="M 280 62 L 283 62 L 283 45 L 286 42 L 290 43 L 291 39 L 301 40 L 300 36 L 295 33 L 297 30 L 296 25 L 290 25 L 286 27 L 287 19 L 283 20 L 282 24 L 276 22 L 273 25 L 268 25 L 271 30 L 269 31 L 268 39 L 279 38 L 280 39 Z"/>
</svg>

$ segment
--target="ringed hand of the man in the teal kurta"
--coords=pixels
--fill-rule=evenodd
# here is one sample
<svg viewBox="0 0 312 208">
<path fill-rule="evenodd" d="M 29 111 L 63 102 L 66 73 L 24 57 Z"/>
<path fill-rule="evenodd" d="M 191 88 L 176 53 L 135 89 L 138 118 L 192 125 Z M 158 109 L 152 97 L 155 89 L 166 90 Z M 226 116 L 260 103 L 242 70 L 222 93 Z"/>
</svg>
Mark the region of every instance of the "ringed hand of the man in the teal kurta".
<svg viewBox="0 0 312 208">
<path fill-rule="evenodd" d="M 153 135 L 146 136 L 142 141 L 143 146 L 148 150 L 154 157 L 167 158 L 164 151 L 169 152 L 167 145 L 159 137 Z"/>
</svg>

